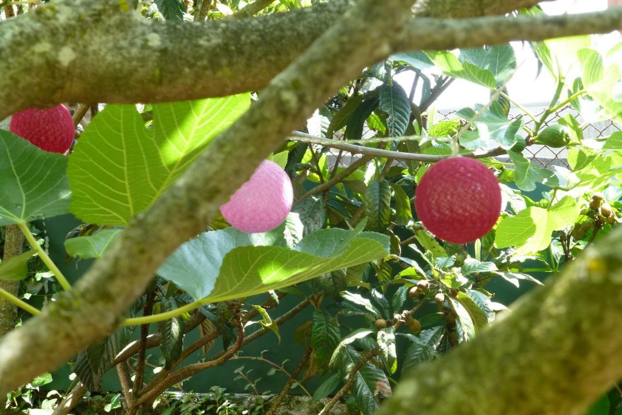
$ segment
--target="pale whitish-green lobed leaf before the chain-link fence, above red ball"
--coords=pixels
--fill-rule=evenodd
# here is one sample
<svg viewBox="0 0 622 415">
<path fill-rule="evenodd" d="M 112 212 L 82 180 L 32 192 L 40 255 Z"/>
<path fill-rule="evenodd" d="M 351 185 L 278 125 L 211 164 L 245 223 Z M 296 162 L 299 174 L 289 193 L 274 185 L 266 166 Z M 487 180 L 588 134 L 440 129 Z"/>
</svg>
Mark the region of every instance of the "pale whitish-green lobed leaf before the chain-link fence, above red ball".
<svg viewBox="0 0 622 415">
<path fill-rule="evenodd" d="M 477 105 L 476 108 L 478 111 L 477 113 L 481 112 L 481 105 Z M 477 113 L 471 108 L 463 108 L 458 111 L 456 115 L 465 120 L 473 121 L 477 117 Z M 521 136 L 518 135 L 518 131 L 521 130 L 524 121 L 522 118 L 508 120 L 507 117 L 502 117 L 491 110 L 486 110 L 473 121 L 473 125 L 475 126 L 475 130 L 465 131 L 463 135 L 460 136 L 461 145 L 475 150 L 477 148 L 486 148 L 490 140 L 494 140 L 499 143 L 502 148 L 509 150 L 521 139 Z"/>
</svg>

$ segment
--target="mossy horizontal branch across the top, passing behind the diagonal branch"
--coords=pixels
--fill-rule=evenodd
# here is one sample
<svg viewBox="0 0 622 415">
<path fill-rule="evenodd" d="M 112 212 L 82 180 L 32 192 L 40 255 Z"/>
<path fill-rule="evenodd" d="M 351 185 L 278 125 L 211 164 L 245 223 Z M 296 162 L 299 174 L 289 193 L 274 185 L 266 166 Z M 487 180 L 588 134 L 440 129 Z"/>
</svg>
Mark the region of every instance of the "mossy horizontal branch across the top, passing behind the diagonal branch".
<svg viewBox="0 0 622 415">
<path fill-rule="evenodd" d="M 466 17 L 535 3 L 498 1 L 480 8 L 481 2 L 496 0 L 418 2 L 415 11 L 434 17 L 451 4 L 465 7 L 460 17 Z M 123 0 L 42 4 L 0 23 L 0 119 L 58 102 L 164 102 L 259 90 L 354 3 L 333 0 L 271 16 L 192 24 L 141 19 Z M 619 9 L 585 16 L 415 19 L 411 32 L 402 32 L 387 52 L 536 41 L 620 26 Z M 22 77 L 24 72 L 37 76 Z"/>
</svg>

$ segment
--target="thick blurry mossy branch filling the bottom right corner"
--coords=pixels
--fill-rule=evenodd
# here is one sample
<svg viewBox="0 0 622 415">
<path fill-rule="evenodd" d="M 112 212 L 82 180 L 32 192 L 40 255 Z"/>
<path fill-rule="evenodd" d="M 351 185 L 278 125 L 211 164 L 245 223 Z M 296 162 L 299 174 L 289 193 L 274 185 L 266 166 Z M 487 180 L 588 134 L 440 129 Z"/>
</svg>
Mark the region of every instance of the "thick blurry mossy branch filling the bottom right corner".
<svg viewBox="0 0 622 415">
<path fill-rule="evenodd" d="M 622 377 L 621 244 L 616 229 L 473 341 L 402 376 L 378 414 L 585 414 Z"/>
</svg>

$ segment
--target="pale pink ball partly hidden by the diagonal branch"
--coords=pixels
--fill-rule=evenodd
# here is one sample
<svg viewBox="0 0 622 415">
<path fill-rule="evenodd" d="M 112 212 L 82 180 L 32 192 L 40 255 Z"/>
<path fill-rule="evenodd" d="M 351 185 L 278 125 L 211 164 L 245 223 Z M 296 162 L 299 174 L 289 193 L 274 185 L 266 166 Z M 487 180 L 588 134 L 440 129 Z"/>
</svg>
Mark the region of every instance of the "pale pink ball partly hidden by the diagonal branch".
<svg viewBox="0 0 622 415">
<path fill-rule="evenodd" d="M 239 231 L 267 232 L 285 220 L 292 203 L 294 188 L 289 176 L 281 166 L 264 160 L 230 201 L 220 206 L 220 212 Z"/>
</svg>

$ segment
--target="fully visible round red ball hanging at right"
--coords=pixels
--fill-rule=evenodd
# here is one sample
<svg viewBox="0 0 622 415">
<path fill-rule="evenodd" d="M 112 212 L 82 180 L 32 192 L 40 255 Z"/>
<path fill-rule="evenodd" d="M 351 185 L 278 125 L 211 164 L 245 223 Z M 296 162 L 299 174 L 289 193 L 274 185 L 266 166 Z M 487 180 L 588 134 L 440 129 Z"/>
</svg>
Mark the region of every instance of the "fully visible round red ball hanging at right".
<svg viewBox="0 0 622 415">
<path fill-rule="evenodd" d="M 501 188 L 480 161 L 452 157 L 425 172 L 415 191 L 415 207 L 428 231 L 465 244 L 493 228 L 501 213 Z"/>
</svg>

